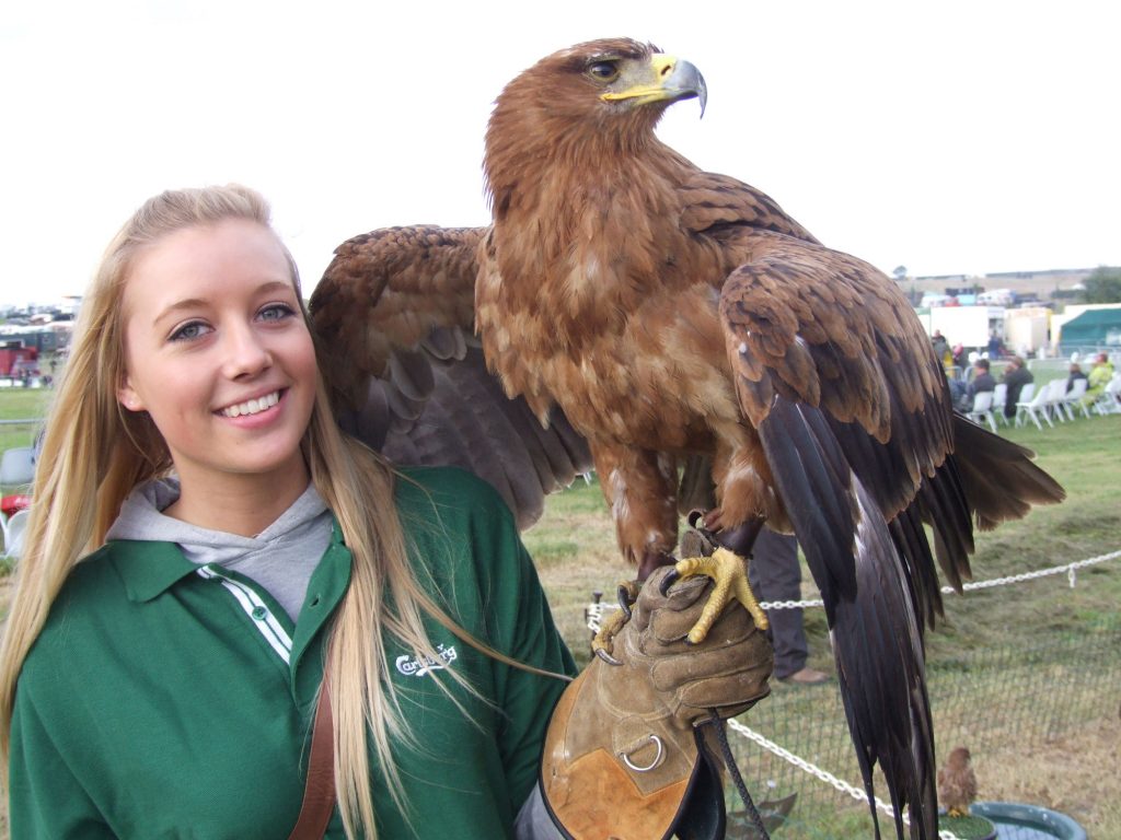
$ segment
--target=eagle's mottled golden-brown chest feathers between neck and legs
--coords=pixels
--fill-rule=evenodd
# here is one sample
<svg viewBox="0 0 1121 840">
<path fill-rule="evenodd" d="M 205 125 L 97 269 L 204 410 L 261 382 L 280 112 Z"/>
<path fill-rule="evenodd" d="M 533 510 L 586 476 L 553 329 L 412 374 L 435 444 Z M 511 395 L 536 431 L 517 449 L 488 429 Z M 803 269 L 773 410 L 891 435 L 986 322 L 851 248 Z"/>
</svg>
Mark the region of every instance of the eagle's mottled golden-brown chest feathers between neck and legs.
<svg viewBox="0 0 1121 840">
<path fill-rule="evenodd" d="M 507 392 L 539 416 L 556 402 L 592 439 L 703 449 L 712 419 L 736 411 L 712 363 L 724 358 L 715 292 L 683 277 L 673 237 L 623 223 L 633 216 L 584 206 L 559 227 L 545 214 L 497 226 L 480 333 Z"/>
</svg>

